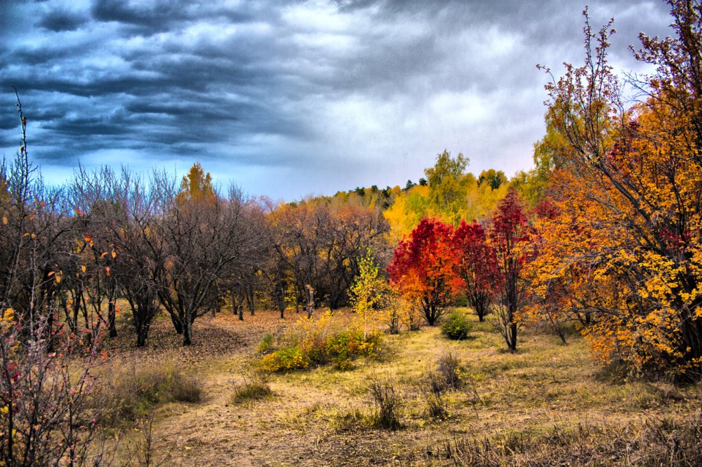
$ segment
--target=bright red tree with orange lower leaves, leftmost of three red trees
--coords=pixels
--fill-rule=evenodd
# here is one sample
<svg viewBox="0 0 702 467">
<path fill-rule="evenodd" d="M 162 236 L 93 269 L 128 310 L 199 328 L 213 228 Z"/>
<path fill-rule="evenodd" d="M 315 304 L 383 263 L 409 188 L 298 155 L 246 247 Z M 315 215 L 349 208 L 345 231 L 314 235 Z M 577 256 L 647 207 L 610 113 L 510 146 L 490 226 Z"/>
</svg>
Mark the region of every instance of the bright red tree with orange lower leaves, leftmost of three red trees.
<svg viewBox="0 0 702 467">
<path fill-rule="evenodd" d="M 408 238 L 395 249 L 388 266 L 390 280 L 433 326 L 461 287 L 456 276 L 458 255 L 453 226 L 437 219 L 422 219 Z"/>
</svg>

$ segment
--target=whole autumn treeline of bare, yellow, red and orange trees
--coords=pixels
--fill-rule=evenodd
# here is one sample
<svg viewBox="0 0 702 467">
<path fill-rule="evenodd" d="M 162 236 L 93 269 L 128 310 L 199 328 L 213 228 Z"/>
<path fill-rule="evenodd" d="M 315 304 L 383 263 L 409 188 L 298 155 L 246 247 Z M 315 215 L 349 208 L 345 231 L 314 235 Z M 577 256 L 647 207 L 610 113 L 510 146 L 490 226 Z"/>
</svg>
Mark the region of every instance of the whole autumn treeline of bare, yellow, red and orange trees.
<svg viewBox="0 0 702 467">
<path fill-rule="evenodd" d="M 86 380 L 57 355 L 95 365 L 117 313 L 144 346 L 162 310 L 187 345 L 205 313 L 345 306 L 362 264 L 387 273 L 369 282 L 397 298 L 383 304 L 429 325 L 467 301 L 481 319 L 494 313 L 516 351 L 520 326 L 541 320 L 565 340 L 572 321 L 603 363 L 699 379 L 702 7 L 668 3 L 675 37 L 642 34 L 635 56 L 656 71 L 626 82 L 607 62 L 611 23 L 592 29 L 585 12 L 585 62 L 559 78 L 541 67 L 546 133 L 535 168 L 510 180 L 476 177 L 468 158 L 443 151 L 417 184 L 293 203 L 223 191 L 199 164 L 182 180 L 106 167 L 48 187 L 29 163 L 18 96 L 21 146 L 0 168 L 3 459 L 15 462 L 18 445 L 51 455 L 37 440 L 56 433 L 22 411 L 26 394 L 44 403 L 41 379 L 64 395 L 47 404 L 81 397 L 74 381 Z M 73 449 L 77 435 L 62 436 Z"/>
</svg>

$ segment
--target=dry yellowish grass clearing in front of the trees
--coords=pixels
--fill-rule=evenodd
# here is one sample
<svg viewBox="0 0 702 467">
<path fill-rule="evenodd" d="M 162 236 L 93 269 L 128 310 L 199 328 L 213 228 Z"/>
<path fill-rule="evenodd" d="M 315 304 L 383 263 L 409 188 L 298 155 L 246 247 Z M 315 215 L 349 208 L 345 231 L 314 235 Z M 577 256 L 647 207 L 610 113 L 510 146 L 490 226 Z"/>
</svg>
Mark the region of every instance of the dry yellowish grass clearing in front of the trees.
<svg viewBox="0 0 702 467">
<path fill-rule="evenodd" d="M 338 311 L 333 319 L 349 317 Z M 112 359 L 113 374 L 171 365 L 201 386 L 199 402 L 156 406 L 147 430 L 154 461 L 196 466 L 700 461 L 700 386 L 616 377 L 590 359 L 577 334 L 564 346 L 555 335 L 525 329 L 512 354 L 489 323 L 471 317 L 473 331 L 464 341 L 423 327 L 385 336 L 379 358 L 361 360 L 354 370 L 324 366 L 256 380 L 250 366 L 263 335 L 282 335 L 297 318 L 290 313 L 280 320 L 274 311 L 247 315 L 243 322 L 229 315 L 203 317 L 188 348 L 180 346 L 166 320 L 154 325 L 147 348 L 133 347 L 128 328 L 108 342 L 123 349 Z M 460 360 L 464 384 L 443 393 L 443 415 L 432 417 L 428 374 L 447 354 Z M 267 384 L 272 393 L 234 397 L 252 381 Z M 399 395 L 402 428 L 373 423 L 373 381 L 391 384 Z M 127 440 L 142 442 L 144 428 L 138 424 Z"/>
</svg>

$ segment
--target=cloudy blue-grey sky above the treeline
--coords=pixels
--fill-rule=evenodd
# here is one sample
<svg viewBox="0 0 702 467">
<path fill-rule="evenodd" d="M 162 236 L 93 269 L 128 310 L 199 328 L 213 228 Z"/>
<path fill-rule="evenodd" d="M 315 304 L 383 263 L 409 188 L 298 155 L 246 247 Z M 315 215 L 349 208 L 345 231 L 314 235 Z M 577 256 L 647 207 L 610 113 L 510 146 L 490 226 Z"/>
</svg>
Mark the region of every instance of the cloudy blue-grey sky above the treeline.
<svg viewBox="0 0 702 467">
<path fill-rule="evenodd" d="M 45 180 L 128 166 L 292 201 L 417 182 L 444 149 L 469 170 L 532 167 L 548 81 L 583 62 L 586 0 L 0 0 L 0 152 Z M 611 65 L 645 73 L 661 0 L 589 2 Z"/>
</svg>

